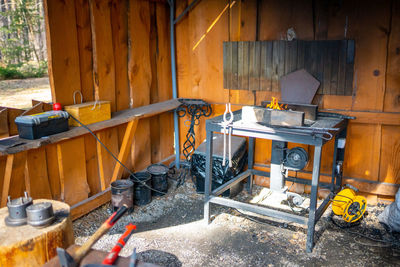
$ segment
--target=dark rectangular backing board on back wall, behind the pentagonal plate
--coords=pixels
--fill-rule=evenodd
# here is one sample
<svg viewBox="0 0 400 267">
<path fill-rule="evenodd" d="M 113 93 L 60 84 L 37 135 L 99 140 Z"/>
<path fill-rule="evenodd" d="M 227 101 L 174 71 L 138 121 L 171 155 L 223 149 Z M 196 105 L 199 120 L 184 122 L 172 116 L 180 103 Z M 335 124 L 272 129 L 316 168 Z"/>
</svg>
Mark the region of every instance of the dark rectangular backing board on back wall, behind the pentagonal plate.
<svg viewBox="0 0 400 267">
<path fill-rule="evenodd" d="M 318 94 L 351 95 L 354 40 L 224 42 L 224 88 L 280 91 L 284 75 L 306 69 Z"/>
</svg>

